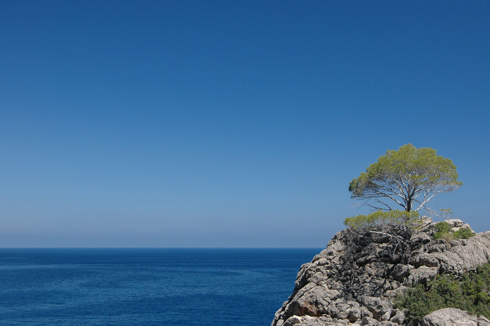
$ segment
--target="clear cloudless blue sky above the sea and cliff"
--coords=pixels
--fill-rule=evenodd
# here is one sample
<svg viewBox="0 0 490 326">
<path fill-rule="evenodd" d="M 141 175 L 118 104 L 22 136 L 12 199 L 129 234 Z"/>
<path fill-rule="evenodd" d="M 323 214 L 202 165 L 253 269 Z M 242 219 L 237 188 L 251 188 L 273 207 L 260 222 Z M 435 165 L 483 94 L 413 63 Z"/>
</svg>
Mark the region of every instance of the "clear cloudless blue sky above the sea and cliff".
<svg viewBox="0 0 490 326">
<path fill-rule="evenodd" d="M 1 1 L 0 247 L 325 247 L 432 147 L 490 230 L 490 1 Z"/>
</svg>

